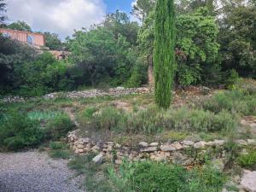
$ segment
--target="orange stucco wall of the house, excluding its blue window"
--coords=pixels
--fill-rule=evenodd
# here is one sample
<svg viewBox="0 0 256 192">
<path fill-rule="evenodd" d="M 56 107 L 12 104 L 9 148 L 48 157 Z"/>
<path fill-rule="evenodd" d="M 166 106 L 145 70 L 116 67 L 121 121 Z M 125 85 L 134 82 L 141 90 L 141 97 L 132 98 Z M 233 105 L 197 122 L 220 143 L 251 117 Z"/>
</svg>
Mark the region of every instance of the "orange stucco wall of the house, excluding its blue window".
<svg viewBox="0 0 256 192">
<path fill-rule="evenodd" d="M 27 37 L 31 36 L 33 41 L 32 44 L 38 46 L 44 46 L 44 35 L 34 32 L 23 32 L 11 29 L 0 29 L 0 33 L 8 34 L 9 38 L 16 39 L 20 42 L 27 43 Z"/>
</svg>

